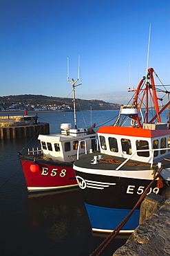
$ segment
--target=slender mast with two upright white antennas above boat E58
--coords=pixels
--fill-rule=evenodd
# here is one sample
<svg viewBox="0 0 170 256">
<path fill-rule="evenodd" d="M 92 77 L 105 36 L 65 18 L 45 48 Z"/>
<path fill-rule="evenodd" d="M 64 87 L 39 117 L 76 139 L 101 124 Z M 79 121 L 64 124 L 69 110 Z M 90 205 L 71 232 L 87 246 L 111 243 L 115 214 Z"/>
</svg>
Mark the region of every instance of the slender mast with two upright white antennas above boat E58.
<svg viewBox="0 0 170 256">
<path fill-rule="evenodd" d="M 69 59 L 67 57 L 67 81 L 72 84 L 72 91 L 73 91 L 73 108 L 74 108 L 74 127 L 76 127 L 76 100 L 75 100 L 75 87 L 81 84 L 76 84 L 76 82 L 79 80 L 80 75 L 80 55 L 78 56 L 78 78 L 74 81 L 72 78 L 72 81 L 69 80 Z M 76 84 L 76 85 L 75 85 Z"/>
</svg>

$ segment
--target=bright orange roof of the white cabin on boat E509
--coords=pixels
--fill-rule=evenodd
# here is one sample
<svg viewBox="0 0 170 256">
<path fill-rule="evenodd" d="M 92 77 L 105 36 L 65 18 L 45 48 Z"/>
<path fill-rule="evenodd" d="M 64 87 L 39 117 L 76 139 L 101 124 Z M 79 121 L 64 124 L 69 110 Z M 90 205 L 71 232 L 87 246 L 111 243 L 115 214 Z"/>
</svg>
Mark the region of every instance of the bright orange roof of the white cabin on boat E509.
<svg viewBox="0 0 170 256">
<path fill-rule="evenodd" d="M 98 134 L 116 134 L 123 136 L 134 136 L 134 137 L 144 137 L 144 138 L 154 138 L 158 136 L 164 136 L 169 134 L 169 129 L 161 129 L 161 130 L 149 130 L 142 128 L 134 128 L 134 127 L 118 127 L 118 126 L 105 126 L 100 127 L 97 131 Z"/>
</svg>

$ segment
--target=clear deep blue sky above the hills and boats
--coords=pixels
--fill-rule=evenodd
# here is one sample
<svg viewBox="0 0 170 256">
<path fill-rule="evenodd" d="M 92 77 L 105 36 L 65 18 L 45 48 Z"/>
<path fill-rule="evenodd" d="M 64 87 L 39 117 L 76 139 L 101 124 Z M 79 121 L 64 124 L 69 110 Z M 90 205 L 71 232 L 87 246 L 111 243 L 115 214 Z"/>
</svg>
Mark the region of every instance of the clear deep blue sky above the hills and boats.
<svg viewBox="0 0 170 256">
<path fill-rule="evenodd" d="M 169 0 L 0 0 L 1 96 L 72 97 L 127 103 L 149 66 L 170 84 Z M 130 72 L 129 72 L 130 70 Z M 129 75 L 130 74 L 130 75 Z"/>
</svg>

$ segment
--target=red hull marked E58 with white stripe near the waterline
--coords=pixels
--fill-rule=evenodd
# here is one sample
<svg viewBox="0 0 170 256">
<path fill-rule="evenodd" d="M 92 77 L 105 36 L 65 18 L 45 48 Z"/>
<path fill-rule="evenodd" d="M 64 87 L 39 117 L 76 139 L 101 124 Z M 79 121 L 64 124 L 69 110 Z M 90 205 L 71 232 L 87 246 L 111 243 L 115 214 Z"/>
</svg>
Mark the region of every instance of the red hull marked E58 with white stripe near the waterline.
<svg viewBox="0 0 170 256">
<path fill-rule="evenodd" d="M 73 163 L 45 160 L 36 158 L 38 170 L 33 170 L 32 156 L 19 156 L 28 192 L 59 190 L 77 186 Z"/>
</svg>

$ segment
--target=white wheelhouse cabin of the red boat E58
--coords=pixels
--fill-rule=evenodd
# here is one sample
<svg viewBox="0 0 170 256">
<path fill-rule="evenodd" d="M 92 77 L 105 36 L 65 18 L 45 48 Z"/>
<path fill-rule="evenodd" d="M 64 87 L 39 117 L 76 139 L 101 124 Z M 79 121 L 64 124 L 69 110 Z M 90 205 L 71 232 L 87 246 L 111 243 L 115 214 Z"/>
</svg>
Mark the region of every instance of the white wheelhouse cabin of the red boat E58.
<svg viewBox="0 0 170 256">
<path fill-rule="evenodd" d="M 76 158 L 78 147 L 80 154 L 85 154 L 84 139 L 88 138 L 87 151 L 94 149 L 94 140 L 90 140 L 96 136 L 93 129 L 70 129 L 70 127 L 70 124 L 62 124 L 61 128 L 64 130 L 61 134 L 39 135 L 38 140 L 41 141 L 41 150 L 45 157 L 54 161 L 72 162 Z"/>
</svg>

